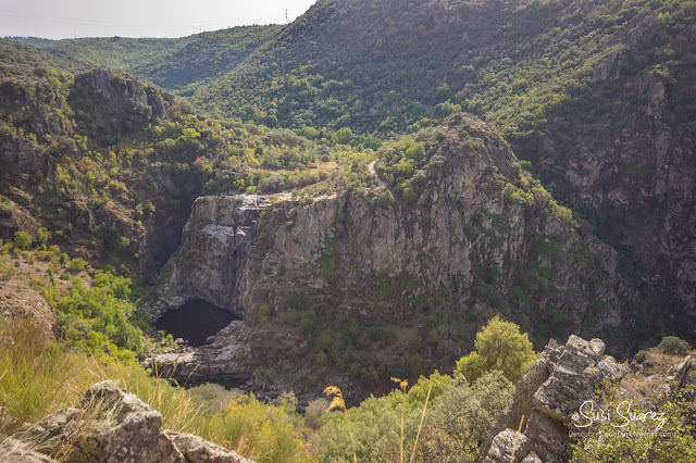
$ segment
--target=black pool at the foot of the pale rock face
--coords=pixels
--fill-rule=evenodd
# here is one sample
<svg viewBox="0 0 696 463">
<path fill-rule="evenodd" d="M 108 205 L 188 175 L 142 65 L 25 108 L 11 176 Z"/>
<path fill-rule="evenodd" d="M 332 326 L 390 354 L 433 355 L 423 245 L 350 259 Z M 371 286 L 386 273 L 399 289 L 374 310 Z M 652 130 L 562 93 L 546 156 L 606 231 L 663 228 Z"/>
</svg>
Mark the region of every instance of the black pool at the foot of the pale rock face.
<svg viewBox="0 0 696 463">
<path fill-rule="evenodd" d="M 201 347 L 206 345 L 206 339 L 235 320 L 241 318 L 207 300 L 191 299 L 159 317 L 154 326 L 171 334 L 174 339 L 183 338 L 191 347 Z"/>
</svg>

